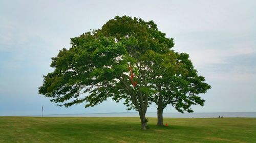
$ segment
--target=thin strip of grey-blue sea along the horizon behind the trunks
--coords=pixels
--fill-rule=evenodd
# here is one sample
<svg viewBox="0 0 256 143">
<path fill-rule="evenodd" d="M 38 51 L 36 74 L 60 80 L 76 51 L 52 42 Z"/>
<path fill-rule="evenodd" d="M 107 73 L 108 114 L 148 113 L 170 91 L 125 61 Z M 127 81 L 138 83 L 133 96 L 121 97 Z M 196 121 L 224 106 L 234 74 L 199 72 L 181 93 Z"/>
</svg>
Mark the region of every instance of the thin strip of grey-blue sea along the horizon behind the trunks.
<svg viewBox="0 0 256 143">
<path fill-rule="evenodd" d="M 193 113 L 174 113 L 164 112 L 164 118 L 256 118 L 256 112 L 193 112 Z M 63 115 L 44 115 L 44 117 L 139 117 L 138 112 L 120 113 L 78 113 Z M 146 117 L 157 117 L 156 112 L 146 113 Z"/>
</svg>

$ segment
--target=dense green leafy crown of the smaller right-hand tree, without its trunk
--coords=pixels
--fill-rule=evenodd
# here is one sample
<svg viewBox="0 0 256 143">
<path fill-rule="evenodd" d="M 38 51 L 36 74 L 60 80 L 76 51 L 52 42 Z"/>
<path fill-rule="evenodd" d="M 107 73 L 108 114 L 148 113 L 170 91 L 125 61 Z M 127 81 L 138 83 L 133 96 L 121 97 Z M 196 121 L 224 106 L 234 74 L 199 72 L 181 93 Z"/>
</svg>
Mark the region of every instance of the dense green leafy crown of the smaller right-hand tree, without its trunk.
<svg viewBox="0 0 256 143">
<path fill-rule="evenodd" d="M 198 95 L 210 89 L 203 76 L 197 74 L 193 64 L 186 53 L 175 55 L 161 55 L 162 58 L 148 56 L 151 68 L 152 89 L 156 92 L 149 100 L 163 109 L 166 105 L 173 105 L 180 112 L 193 112 L 191 105 L 204 105 L 203 99 Z M 162 60 L 159 60 L 162 59 Z"/>
</svg>

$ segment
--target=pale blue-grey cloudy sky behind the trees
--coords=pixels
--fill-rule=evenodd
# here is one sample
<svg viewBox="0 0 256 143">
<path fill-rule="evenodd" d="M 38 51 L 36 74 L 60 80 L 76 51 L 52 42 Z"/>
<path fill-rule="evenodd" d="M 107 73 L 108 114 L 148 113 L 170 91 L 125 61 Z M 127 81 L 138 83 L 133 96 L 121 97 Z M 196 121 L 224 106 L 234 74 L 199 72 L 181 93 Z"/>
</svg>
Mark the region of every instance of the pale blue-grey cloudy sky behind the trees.
<svg viewBox="0 0 256 143">
<path fill-rule="evenodd" d="M 211 89 L 195 112 L 256 111 L 256 1 L 0 1 L 0 116 L 127 112 L 111 99 L 58 107 L 38 94 L 70 38 L 115 16 L 153 20 Z M 156 112 L 151 105 L 147 112 Z M 134 112 L 134 111 L 130 111 Z M 164 112 L 177 112 L 167 106 Z"/>
</svg>

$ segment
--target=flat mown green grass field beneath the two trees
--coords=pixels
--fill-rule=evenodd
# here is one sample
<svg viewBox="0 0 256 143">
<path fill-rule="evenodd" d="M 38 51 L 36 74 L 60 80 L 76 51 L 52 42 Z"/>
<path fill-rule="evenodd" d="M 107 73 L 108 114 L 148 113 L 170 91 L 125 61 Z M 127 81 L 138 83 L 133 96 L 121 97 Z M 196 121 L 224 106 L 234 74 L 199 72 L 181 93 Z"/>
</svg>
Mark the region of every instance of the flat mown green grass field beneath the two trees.
<svg viewBox="0 0 256 143">
<path fill-rule="evenodd" d="M 0 142 L 256 142 L 256 118 L 0 117 Z"/>
</svg>

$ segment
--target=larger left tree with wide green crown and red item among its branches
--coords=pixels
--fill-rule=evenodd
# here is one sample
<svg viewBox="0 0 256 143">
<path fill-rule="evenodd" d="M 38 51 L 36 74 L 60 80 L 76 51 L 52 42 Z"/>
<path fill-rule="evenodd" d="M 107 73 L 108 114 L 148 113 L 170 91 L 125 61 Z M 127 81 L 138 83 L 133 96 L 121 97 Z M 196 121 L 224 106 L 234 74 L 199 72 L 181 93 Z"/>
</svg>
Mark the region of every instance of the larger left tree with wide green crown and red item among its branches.
<svg viewBox="0 0 256 143">
<path fill-rule="evenodd" d="M 125 98 L 127 106 L 138 110 L 141 127 L 146 130 L 151 93 L 146 73 L 139 70 L 143 67 L 140 57 L 150 49 L 167 51 L 173 40 L 164 39 L 153 21 L 117 16 L 100 30 L 71 38 L 71 44 L 52 58 L 54 71 L 44 76 L 39 94 L 66 107 L 82 102 L 94 106 L 108 97 L 116 101 Z"/>
</svg>

